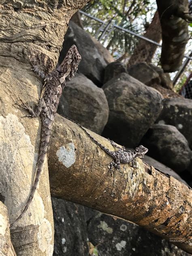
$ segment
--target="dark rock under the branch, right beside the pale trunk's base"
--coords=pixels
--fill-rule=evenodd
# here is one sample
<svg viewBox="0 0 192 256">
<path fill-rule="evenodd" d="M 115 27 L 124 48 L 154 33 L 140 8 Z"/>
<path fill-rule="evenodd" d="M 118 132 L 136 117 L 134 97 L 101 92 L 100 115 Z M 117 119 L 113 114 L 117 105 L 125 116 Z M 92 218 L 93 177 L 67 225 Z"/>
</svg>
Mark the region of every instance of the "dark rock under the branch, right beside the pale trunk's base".
<svg viewBox="0 0 192 256">
<path fill-rule="evenodd" d="M 55 228 L 53 256 L 88 256 L 84 207 L 54 197 L 51 201 Z"/>
</svg>

